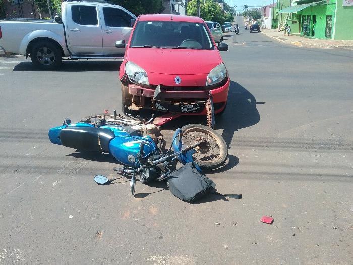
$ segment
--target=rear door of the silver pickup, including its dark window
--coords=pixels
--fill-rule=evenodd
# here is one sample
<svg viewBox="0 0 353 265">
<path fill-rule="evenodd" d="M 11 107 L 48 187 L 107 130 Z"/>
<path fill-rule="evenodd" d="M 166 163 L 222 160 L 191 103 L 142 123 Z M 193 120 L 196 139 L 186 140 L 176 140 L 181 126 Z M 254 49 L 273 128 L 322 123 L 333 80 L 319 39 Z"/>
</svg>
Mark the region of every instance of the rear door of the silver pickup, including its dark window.
<svg viewBox="0 0 353 265">
<path fill-rule="evenodd" d="M 67 41 L 71 52 L 80 55 L 102 54 L 102 28 L 94 5 L 67 4 Z"/>
</svg>

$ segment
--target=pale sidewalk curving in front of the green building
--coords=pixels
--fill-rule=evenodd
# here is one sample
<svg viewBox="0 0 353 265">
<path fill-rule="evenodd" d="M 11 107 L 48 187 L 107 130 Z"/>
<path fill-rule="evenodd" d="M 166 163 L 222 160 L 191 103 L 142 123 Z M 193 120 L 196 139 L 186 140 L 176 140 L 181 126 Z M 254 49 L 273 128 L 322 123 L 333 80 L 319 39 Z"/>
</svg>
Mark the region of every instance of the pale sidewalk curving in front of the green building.
<svg viewBox="0 0 353 265">
<path fill-rule="evenodd" d="M 295 35 L 284 35 L 284 32 L 277 32 L 277 29 L 263 29 L 264 35 L 269 36 L 285 44 L 291 44 L 307 48 L 322 49 L 353 49 L 353 40 L 333 40 L 333 39 L 314 39 Z"/>
</svg>

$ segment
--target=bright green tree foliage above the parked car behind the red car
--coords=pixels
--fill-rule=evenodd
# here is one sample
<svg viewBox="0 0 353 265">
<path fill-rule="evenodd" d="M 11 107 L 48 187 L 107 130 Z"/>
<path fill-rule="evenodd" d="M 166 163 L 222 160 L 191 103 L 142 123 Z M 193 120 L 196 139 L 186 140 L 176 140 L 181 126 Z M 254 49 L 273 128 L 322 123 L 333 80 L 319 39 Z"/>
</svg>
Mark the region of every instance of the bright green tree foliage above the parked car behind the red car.
<svg viewBox="0 0 353 265">
<path fill-rule="evenodd" d="M 227 12 L 224 13 L 215 1 L 205 0 L 205 2 L 200 2 L 200 16 L 203 20 L 216 21 L 220 25 L 223 25 L 224 21 L 234 21 L 233 15 Z M 197 0 L 189 1 L 187 9 L 189 16 L 197 16 Z"/>
</svg>

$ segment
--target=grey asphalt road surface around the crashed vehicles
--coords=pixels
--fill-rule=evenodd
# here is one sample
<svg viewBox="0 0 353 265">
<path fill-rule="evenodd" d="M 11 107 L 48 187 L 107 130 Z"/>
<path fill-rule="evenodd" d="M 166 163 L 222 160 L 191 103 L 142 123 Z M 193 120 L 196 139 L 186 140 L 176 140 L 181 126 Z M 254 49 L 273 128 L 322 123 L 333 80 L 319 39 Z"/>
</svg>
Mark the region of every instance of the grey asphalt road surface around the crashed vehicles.
<svg viewBox="0 0 353 265">
<path fill-rule="evenodd" d="M 232 80 L 216 129 L 228 164 L 208 174 L 223 193 L 188 204 L 166 183 L 114 176 L 109 155 L 50 144 L 47 131 L 120 110 L 117 62 L 64 62 L 43 72 L 0 58 L 0 262 L 4 264 L 351 264 L 353 52 L 286 46 L 261 33 L 224 37 Z M 169 123 L 172 130 L 204 118 Z M 274 223 L 260 222 L 263 215 Z"/>
</svg>

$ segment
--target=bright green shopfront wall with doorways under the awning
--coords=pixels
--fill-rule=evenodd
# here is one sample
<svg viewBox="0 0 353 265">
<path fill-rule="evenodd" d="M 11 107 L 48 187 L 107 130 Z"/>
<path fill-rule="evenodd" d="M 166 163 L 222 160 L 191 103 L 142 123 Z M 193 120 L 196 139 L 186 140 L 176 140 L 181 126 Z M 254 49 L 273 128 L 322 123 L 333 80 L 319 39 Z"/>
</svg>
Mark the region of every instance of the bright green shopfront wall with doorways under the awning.
<svg viewBox="0 0 353 265">
<path fill-rule="evenodd" d="M 342 1 L 342 0 L 337 0 L 337 1 Z M 311 16 L 311 22 L 310 22 L 310 31 L 312 31 L 313 27 L 313 15 L 316 15 L 316 26 L 315 26 L 315 37 L 319 39 L 324 39 L 325 38 L 325 32 L 326 32 L 326 16 L 331 15 L 332 16 L 332 29 L 335 27 L 334 25 L 334 19 L 335 19 L 335 4 L 328 4 L 328 5 L 316 5 L 316 6 L 311 6 L 307 7 L 300 12 L 298 12 L 300 15 L 310 15 Z M 302 20 L 300 20 L 302 21 Z M 301 23 L 302 24 L 302 23 Z M 301 25 L 303 27 L 303 25 Z M 331 32 L 331 37 L 333 36 L 333 32 Z"/>
</svg>

